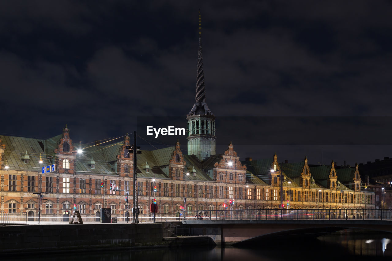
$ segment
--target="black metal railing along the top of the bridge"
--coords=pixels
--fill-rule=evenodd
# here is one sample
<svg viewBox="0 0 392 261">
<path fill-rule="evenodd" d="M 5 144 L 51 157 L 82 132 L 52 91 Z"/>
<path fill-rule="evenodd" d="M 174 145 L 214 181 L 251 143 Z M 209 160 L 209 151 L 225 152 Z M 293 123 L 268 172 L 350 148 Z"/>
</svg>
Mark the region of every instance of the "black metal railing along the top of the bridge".
<svg viewBox="0 0 392 261">
<path fill-rule="evenodd" d="M 246 219 L 392 219 L 391 209 L 236 209 L 187 210 L 183 220 L 246 220 Z"/>
</svg>

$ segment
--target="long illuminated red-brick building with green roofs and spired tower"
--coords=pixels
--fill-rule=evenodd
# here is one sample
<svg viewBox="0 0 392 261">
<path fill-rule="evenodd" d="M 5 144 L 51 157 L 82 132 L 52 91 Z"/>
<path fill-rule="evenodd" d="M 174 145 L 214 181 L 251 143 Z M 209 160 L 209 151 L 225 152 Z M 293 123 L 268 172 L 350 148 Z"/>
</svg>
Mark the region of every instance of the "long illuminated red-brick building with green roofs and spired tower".
<svg viewBox="0 0 392 261">
<path fill-rule="evenodd" d="M 282 196 L 290 208 L 374 208 L 374 192 L 363 190 L 358 166 L 310 167 L 307 158 L 299 163 L 270 159 L 240 161 L 232 143 L 223 153 L 215 151 L 215 116 L 206 103 L 201 34 L 199 38 L 196 100 L 187 115 L 188 144 L 146 151 L 138 155 L 138 202 L 140 214 L 149 215 L 149 204 L 157 199 L 158 214 L 176 216 L 186 198 L 186 210 L 229 208 L 281 208 Z M 35 192 L 47 192 L 42 203 L 46 220 L 67 221 L 74 205 L 83 219 L 99 220 L 100 208 L 124 217 L 125 197 L 109 190 L 109 184 L 129 192 L 133 185 L 133 154 L 126 148 L 133 141 L 125 136 L 118 143 L 84 145 L 78 154 L 67 126 L 63 133 L 47 140 L 2 136 L 0 138 L 1 211 L 27 212 L 38 216 Z M 235 139 L 235 137 L 233 137 Z M 183 154 L 183 150 L 188 155 Z M 42 157 L 43 163 L 39 163 Z M 42 167 L 55 165 L 54 172 Z M 271 171 L 273 170 L 273 171 Z M 155 180 L 155 181 L 154 181 Z M 101 188 L 101 183 L 103 187 Z M 157 187 L 154 195 L 153 188 Z M 105 196 L 104 196 L 105 195 Z M 89 217 L 89 218 L 87 218 Z"/>
</svg>

